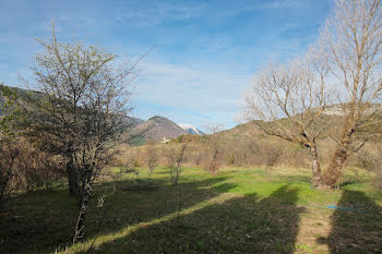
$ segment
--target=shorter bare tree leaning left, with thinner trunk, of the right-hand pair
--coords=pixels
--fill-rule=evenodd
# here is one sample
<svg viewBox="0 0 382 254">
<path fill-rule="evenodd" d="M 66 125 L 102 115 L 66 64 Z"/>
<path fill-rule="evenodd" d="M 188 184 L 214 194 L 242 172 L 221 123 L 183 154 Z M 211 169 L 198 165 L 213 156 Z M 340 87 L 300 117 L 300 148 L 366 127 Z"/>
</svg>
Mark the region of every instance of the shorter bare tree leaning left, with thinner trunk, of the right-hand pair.
<svg viewBox="0 0 382 254">
<path fill-rule="evenodd" d="M 297 142 L 310 150 L 312 184 L 322 186 L 317 138 L 324 134 L 329 102 L 327 68 L 312 49 L 303 61 L 271 64 L 254 77 L 246 95 L 246 119 L 268 135 Z"/>
</svg>

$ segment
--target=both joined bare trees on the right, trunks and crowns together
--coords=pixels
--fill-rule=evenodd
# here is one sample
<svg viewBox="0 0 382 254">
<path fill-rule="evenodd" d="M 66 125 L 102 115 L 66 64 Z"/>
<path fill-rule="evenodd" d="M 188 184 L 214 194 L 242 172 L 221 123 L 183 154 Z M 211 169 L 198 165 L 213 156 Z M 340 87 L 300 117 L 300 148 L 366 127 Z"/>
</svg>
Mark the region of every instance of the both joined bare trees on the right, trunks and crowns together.
<svg viewBox="0 0 382 254">
<path fill-rule="evenodd" d="M 247 108 L 250 116 L 254 112 L 264 120 L 253 122 L 261 130 L 308 147 L 313 184 L 332 189 L 342 178 L 349 154 L 365 142 L 357 133 L 381 122 L 381 0 L 336 0 L 314 48 L 307 63 L 297 68 L 263 70 L 256 76 L 253 96 L 247 98 Z M 342 121 L 337 147 L 321 178 L 315 140 L 322 134 L 317 128 L 327 125 L 322 121 L 329 94 L 337 94 L 331 102 L 337 104 Z"/>
</svg>

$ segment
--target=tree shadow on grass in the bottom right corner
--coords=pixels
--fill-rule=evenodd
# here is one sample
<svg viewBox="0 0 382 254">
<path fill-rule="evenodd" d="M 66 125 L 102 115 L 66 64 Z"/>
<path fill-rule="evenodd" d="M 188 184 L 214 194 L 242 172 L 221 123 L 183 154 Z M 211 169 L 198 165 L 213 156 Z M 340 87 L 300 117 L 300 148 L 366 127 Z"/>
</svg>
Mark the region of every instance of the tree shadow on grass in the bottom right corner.
<svg viewBox="0 0 382 254">
<path fill-rule="evenodd" d="M 362 192 L 344 190 L 331 219 L 330 237 L 318 239 L 331 253 L 382 253 L 382 208 Z"/>
</svg>

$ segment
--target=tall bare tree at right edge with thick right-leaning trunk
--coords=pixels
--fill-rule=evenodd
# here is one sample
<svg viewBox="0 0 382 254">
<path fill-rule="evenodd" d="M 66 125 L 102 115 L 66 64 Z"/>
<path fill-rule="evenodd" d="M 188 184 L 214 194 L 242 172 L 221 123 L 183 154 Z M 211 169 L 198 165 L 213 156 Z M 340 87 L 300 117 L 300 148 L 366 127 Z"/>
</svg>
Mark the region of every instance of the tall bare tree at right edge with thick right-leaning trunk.
<svg viewBox="0 0 382 254">
<path fill-rule="evenodd" d="M 357 133 L 380 122 L 382 66 L 381 0 L 336 0 L 321 33 L 331 83 L 343 114 L 337 147 L 324 173 L 334 188 L 349 153 L 359 146 Z"/>
</svg>

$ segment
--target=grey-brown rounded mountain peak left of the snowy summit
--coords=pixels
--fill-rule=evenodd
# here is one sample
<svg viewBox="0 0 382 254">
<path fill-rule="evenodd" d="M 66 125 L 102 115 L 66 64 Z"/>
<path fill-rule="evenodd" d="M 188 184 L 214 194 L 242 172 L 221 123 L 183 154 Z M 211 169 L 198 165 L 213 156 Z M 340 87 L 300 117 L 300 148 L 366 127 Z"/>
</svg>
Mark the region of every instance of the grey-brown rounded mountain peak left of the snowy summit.
<svg viewBox="0 0 382 254">
<path fill-rule="evenodd" d="M 164 138 L 175 138 L 180 135 L 188 134 L 187 131 L 181 129 L 178 124 L 164 117 L 153 117 L 145 122 L 141 122 L 133 129 L 133 133 L 142 133 L 141 141 L 138 144 L 144 143 L 144 141 L 163 141 Z"/>
</svg>

